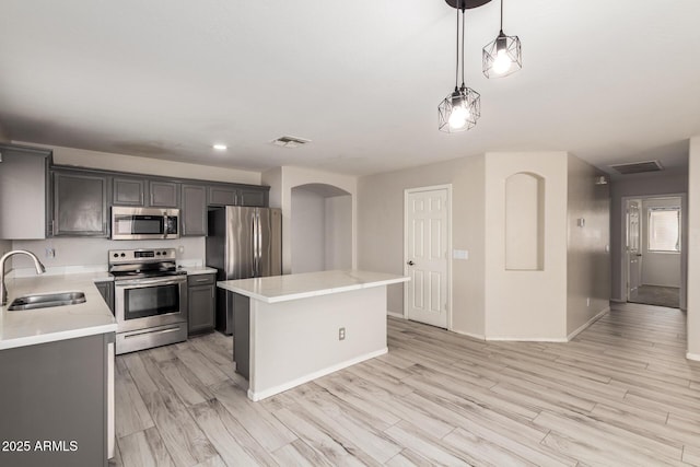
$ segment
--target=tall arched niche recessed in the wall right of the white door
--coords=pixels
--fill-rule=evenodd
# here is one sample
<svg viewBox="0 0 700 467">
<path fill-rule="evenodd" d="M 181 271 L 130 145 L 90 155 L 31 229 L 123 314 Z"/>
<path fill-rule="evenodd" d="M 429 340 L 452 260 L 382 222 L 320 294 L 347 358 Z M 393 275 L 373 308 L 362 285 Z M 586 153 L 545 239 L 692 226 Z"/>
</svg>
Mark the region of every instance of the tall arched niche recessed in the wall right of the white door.
<svg viewBox="0 0 700 467">
<path fill-rule="evenodd" d="M 545 178 L 518 172 L 505 179 L 505 270 L 545 269 Z"/>
</svg>

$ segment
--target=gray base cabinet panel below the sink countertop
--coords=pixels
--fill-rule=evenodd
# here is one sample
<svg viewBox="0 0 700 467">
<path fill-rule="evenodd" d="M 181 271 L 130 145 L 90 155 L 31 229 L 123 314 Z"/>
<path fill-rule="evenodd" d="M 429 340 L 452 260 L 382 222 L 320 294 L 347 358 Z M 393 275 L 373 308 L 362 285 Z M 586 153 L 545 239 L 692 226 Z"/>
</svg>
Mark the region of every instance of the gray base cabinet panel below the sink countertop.
<svg viewBox="0 0 700 467">
<path fill-rule="evenodd" d="M 0 350 L 0 465 L 106 466 L 114 332 Z"/>
</svg>

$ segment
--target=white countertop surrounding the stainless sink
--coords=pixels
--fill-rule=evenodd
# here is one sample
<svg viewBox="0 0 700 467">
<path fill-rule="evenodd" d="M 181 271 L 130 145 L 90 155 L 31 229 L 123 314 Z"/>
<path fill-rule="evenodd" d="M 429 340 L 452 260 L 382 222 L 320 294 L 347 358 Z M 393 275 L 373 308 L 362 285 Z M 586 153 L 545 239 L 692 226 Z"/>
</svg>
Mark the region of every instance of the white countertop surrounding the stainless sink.
<svg viewBox="0 0 700 467">
<path fill-rule="evenodd" d="M 0 306 L 0 350 L 115 332 L 117 322 L 94 284 L 108 278 L 107 272 L 5 278 L 8 305 Z M 69 291 L 83 292 L 85 303 L 18 312 L 7 310 L 18 296 Z"/>
</svg>

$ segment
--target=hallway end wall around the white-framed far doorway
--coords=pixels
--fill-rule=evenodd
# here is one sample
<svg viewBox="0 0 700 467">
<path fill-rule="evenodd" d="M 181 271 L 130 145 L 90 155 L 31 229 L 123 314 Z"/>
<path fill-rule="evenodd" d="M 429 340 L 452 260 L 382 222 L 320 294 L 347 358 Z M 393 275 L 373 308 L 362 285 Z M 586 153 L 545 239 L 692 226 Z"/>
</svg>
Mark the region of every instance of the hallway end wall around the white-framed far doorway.
<svg viewBox="0 0 700 467">
<path fill-rule="evenodd" d="M 612 264 L 610 290 L 611 300 L 620 302 L 627 301 L 627 291 L 622 270 L 625 254 L 622 198 L 634 196 L 646 197 L 655 195 L 678 195 L 687 191 L 688 173 L 685 171 L 626 175 L 625 178 L 612 180 L 610 183 L 610 256 Z M 688 219 L 687 209 L 684 210 L 681 215 Z M 681 258 L 681 261 L 682 260 L 684 259 Z M 682 302 L 684 297 L 681 297 L 681 307 L 684 305 Z"/>
</svg>

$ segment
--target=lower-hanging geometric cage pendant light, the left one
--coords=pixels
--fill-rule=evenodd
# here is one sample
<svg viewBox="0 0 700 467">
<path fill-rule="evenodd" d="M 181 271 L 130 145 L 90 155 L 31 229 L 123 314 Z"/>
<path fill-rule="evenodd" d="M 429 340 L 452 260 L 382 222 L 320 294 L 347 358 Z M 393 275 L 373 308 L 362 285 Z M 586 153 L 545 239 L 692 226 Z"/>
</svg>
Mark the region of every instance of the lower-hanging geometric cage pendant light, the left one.
<svg viewBox="0 0 700 467">
<path fill-rule="evenodd" d="M 450 3 L 450 1 L 448 1 Z M 464 82 L 464 0 L 457 0 L 457 54 L 455 70 L 455 90 L 438 106 L 438 128 L 448 133 L 464 131 L 477 124 L 481 115 L 480 95 Z M 457 85 L 459 79 L 459 10 L 462 10 L 462 85 Z"/>
</svg>

